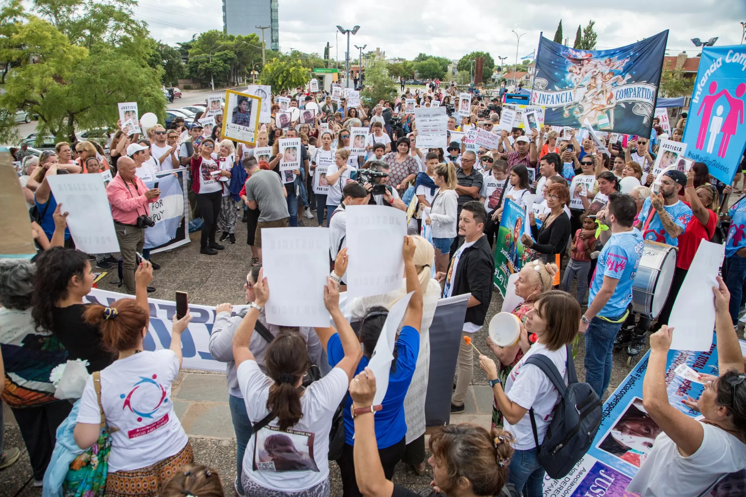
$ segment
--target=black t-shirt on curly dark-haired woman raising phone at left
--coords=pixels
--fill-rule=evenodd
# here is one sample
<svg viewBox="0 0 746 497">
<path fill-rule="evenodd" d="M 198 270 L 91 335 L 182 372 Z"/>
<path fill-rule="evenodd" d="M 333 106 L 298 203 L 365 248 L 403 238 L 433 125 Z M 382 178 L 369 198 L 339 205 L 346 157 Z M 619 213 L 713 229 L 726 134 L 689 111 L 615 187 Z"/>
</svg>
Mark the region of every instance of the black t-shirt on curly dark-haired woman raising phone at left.
<svg viewBox="0 0 746 497">
<path fill-rule="evenodd" d="M 103 370 L 116 357 L 104 345 L 98 326 L 83 320 L 86 308 L 86 304 L 53 308 L 52 332 L 67 349 L 69 359 L 85 359 L 89 362 L 88 372 L 93 373 Z"/>
</svg>

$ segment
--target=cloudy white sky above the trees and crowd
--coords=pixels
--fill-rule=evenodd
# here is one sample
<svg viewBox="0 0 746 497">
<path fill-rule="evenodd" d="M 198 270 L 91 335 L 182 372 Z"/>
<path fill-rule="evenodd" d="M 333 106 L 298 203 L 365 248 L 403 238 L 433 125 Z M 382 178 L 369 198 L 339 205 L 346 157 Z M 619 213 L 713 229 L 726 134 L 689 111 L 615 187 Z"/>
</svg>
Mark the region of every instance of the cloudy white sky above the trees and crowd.
<svg viewBox="0 0 746 497">
<path fill-rule="evenodd" d="M 615 48 L 650 37 L 665 29 L 668 54 L 686 50 L 690 57 L 698 49 L 690 39 L 719 37 L 717 45 L 737 45 L 741 41 L 741 21 L 746 21 L 744 0 L 674 0 L 662 2 L 612 2 L 575 0 L 569 4 L 548 0 L 475 0 L 466 9 L 451 7 L 459 1 L 378 0 L 373 3 L 327 0 L 322 3 L 280 0 L 280 50 L 291 48 L 323 53 L 329 42 L 331 56 L 339 50 L 344 59 L 346 40 L 336 25 L 360 25 L 350 45 L 380 48 L 386 57 L 412 59 L 420 52 L 458 59 L 473 50 L 489 51 L 492 57 L 515 60 L 516 35 L 521 37 L 518 57 L 530 54 L 539 42 L 539 33 L 554 37 L 562 19 L 563 36 L 569 44 L 578 25 L 594 19 L 597 48 Z M 443 7 L 447 6 L 444 10 Z M 650 6 L 652 10 L 645 7 Z M 156 39 L 170 45 L 192 38 L 192 34 L 222 29 L 220 0 L 140 0 L 138 19 L 145 20 Z M 269 34 L 269 33 L 268 33 Z M 337 45 L 339 43 L 339 47 Z M 745 44 L 746 48 L 746 44 Z M 351 48 L 355 54 L 357 50 Z"/>
</svg>

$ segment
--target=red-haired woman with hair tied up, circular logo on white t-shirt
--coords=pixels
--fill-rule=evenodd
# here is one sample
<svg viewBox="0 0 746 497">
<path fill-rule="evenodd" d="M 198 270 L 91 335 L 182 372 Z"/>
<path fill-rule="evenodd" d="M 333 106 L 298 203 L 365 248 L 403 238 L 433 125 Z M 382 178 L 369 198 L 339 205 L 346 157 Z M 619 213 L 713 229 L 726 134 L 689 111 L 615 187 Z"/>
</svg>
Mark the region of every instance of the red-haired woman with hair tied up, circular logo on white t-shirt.
<svg viewBox="0 0 746 497">
<path fill-rule="evenodd" d="M 181 333 L 192 317 L 174 316 L 169 349 L 145 350 L 148 311 L 136 300 L 91 304 L 83 317 L 101 329 L 116 360 L 100 372 L 100 400 L 90 376 L 81 398 L 75 443 L 98 442 L 102 418 L 111 434 L 107 497 L 157 497 L 169 478 L 192 463 L 192 447 L 174 412 L 171 385 L 181 368 Z"/>
</svg>

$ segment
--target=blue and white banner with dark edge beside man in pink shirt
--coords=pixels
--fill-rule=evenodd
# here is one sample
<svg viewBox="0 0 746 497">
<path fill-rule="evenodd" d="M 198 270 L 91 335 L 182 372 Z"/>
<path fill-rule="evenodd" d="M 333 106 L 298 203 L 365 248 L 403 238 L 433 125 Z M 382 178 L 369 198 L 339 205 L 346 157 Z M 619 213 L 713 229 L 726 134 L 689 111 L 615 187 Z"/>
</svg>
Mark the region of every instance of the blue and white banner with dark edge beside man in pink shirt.
<svg viewBox="0 0 746 497">
<path fill-rule="evenodd" d="M 156 180 L 145 182 L 145 186 L 154 188 L 156 182 L 160 197 L 150 204 L 150 218 L 155 226 L 145 228 L 145 248 L 149 248 L 150 253 L 189 243 L 186 168 L 156 173 Z"/>
</svg>

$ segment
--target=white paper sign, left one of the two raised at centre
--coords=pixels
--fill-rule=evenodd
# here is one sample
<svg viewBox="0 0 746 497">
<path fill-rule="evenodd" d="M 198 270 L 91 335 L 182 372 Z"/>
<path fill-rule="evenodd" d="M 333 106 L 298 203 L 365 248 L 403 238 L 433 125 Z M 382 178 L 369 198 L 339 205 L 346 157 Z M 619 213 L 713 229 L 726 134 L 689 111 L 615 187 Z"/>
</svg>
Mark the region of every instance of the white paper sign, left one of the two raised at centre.
<svg viewBox="0 0 746 497">
<path fill-rule="evenodd" d="M 263 228 L 262 247 L 262 268 L 269 283 L 267 323 L 329 326 L 324 306 L 329 229 Z"/>
</svg>

